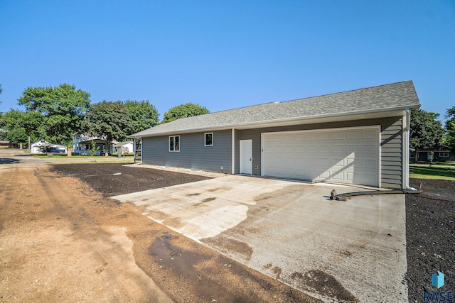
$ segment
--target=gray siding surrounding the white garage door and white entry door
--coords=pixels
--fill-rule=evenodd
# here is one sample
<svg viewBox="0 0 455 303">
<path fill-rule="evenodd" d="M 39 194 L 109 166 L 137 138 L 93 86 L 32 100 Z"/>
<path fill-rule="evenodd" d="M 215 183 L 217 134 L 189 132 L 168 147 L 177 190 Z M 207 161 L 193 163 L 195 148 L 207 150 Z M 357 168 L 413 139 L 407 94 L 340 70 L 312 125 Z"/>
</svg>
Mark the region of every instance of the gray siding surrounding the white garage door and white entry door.
<svg viewBox="0 0 455 303">
<path fill-rule="evenodd" d="M 235 173 L 239 173 L 239 140 L 252 139 L 253 175 L 261 175 L 261 133 L 274 131 L 304 131 L 323 128 L 344 128 L 353 126 L 381 126 L 381 186 L 402 187 L 402 117 L 342 121 L 336 123 L 317 123 L 274 128 L 257 128 L 236 131 Z M 257 167 L 257 168 L 255 168 Z"/>
</svg>

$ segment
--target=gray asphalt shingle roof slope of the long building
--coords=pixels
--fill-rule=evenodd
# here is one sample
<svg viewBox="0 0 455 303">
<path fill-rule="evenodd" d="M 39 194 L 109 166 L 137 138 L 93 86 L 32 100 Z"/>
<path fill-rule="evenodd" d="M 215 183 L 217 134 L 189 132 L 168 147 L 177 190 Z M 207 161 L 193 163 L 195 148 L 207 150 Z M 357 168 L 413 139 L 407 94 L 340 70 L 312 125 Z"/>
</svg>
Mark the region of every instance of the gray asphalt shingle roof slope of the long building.
<svg viewBox="0 0 455 303">
<path fill-rule="evenodd" d="M 134 136 L 159 136 L 165 133 L 232 128 L 236 125 L 267 123 L 277 120 L 305 119 L 319 116 L 343 116 L 355 113 L 391 111 L 419 107 L 419 98 L 412 81 L 397 82 L 348 92 L 326 94 L 282 102 L 218 111 L 211 114 L 178 119 L 146 129 Z"/>
</svg>

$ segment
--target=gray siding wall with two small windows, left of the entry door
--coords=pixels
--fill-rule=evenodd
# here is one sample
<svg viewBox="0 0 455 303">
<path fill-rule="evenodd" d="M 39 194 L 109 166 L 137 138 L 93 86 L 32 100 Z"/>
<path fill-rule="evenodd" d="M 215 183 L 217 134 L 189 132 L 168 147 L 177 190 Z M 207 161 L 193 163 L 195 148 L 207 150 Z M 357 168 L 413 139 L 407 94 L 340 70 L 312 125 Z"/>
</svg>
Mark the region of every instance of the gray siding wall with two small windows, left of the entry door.
<svg viewBox="0 0 455 303">
<path fill-rule="evenodd" d="M 176 133 L 180 136 L 180 151 L 170 152 L 169 136 L 144 138 L 142 162 L 144 164 L 182 167 L 210 172 L 232 172 L 232 131 L 213 131 L 213 146 L 204 146 L 203 133 Z"/>
</svg>

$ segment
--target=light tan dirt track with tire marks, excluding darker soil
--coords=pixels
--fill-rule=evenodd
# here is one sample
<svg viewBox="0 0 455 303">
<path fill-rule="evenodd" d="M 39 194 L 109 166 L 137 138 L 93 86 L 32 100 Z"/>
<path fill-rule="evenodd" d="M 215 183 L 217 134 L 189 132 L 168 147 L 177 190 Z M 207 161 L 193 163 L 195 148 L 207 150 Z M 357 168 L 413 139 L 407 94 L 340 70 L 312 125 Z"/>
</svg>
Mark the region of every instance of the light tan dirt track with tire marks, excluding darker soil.
<svg viewBox="0 0 455 303">
<path fill-rule="evenodd" d="M 6 227 L 9 232 L 0 233 L 0 249 L 5 248 L 0 250 L 0 261 L 6 260 L 11 272 L 24 266 L 26 270 L 21 270 L 19 277 L 10 271 L 0 274 L 0 298 L 7 299 L 7 302 L 171 302 L 137 267 L 132 241 L 125 234 L 126 228 L 102 228 L 96 224 L 84 206 L 75 202 L 81 197 L 72 190 L 74 186 L 68 189 L 68 184 L 72 184 L 70 178 L 56 178 L 48 167 L 37 167 L 34 174 L 30 169 L 14 169 L 10 176 L 11 179 L 1 182 L 0 186 L 6 189 L 2 190 L 0 204 L 2 209 L 9 208 L 6 211 L 9 216 L 4 218 L 2 215 L 0 218 L 1 221 L 11 222 L 8 227 L 13 229 Z M 30 193 L 31 188 L 35 189 L 34 195 Z M 3 199 L 5 194 L 13 193 L 22 197 L 14 198 L 14 202 Z M 18 213 L 16 203 L 21 204 L 21 213 Z M 28 212 L 24 211 L 30 209 L 33 203 L 42 207 L 43 211 L 26 216 Z M 57 247 L 43 251 L 45 243 Z M 65 256 L 68 263 L 62 263 Z M 40 273 L 43 269 L 50 272 L 43 275 Z M 36 279 L 38 276 L 39 279 Z M 25 285 L 18 287 L 16 284 L 21 281 Z M 48 282 L 57 285 L 48 285 Z M 27 291 L 21 293 L 18 288 Z"/>
</svg>

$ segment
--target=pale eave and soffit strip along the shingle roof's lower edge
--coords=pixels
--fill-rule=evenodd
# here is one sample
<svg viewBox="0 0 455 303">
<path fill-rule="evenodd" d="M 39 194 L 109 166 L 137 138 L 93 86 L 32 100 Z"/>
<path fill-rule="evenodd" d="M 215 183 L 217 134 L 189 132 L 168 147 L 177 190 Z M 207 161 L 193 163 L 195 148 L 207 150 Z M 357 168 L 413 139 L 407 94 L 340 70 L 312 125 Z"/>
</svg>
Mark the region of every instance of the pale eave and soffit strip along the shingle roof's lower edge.
<svg viewBox="0 0 455 303">
<path fill-rule="evenodd" d="M 351 113 L 343 114 L 324 114 L 321 116 L 305 116 L 298 118 L 287 118 L 287 119 L 275 119 L 270 121 L 257 121 L 250 123 L 237 123 L 234 125 L 225 126 L 213 126 L 204 128 L 191 128 L 182 131 L 168 131 L 151 134 L 133 134 L 127 138 L 151 138 L 159 136 L 171 136 L 181 133 L 199 133 L 203 131 L 223 131 L 226 129 L 252 129 L 252 128 L 266 128 L 266 127 L 279 127 L 279 126 L 294 126 L 301 124 L 314 124 L 314 123 L 333 123 L 338 121 L 354 121 L 354 120 L 366 120 L 366 119 L 380 119 L 394 116 L 404 116 L 407 110 L 412 108 L 419 108 L 420 104 L 416 104 L 411 107 L 400 107 L 395 109 L 381 109 L 375 111 L 355 111 Z"/>
</svg>

